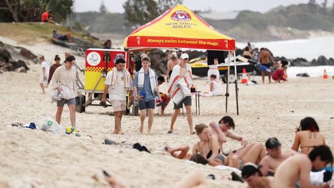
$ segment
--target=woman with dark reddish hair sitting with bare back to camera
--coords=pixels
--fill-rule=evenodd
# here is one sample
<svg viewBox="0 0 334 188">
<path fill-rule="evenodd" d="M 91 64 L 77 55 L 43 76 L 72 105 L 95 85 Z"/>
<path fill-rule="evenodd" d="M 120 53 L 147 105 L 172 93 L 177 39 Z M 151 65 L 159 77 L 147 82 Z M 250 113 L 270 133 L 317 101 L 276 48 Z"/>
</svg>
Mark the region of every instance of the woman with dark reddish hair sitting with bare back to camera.
<svg viewBox="0 0 334 188">
<path fill-rule="evenodd" d="M 316 120 L 306 117 L 301 120 L 300 126 L 296 127 L 291 149 L 298 152 L 298 148 L 301 146 L 301 153 L 309 154 L 314 147 L 325 143 L 325 137 L 319 133 L 319 126 Z"/>
</svg>

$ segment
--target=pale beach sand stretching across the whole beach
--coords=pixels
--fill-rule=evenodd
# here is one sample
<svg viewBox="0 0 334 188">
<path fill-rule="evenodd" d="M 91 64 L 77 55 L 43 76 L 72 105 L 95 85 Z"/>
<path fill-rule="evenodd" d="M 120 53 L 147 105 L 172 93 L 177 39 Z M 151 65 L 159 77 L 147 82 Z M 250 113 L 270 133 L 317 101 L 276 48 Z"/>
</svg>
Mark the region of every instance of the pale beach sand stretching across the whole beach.
<svg viewBox="0 0 334 188">
<path fill-rule="evenodd" d="M 10 43 L 4 38 L 0 41 Z M 44 54 L 50 62 L 53 62 L 54 54 L 60 54 L 63 59 L 63 53 L 67 50 L 50 44 L 24 47 L 36 54 Z M 83 66 L 83 58 L 77 58 L 79 66 Z M 192 147 L 198 140 L 196 135 L 189 135 L 187 118 L 182 115 L 176 121 L 174 133 L 166 134 L 173 112 L 172 105 L 166 108 L 169 115 L 155 116 L 151 135 L 139 134 L 140 120 L 137 116 L 123 116 L 125 135 L 112 134 L 112 107 L 105 109 L 97 106 L 88 106 L 86 112 L 76 114 L 81 134 L 93 136 L 91 139 L 7 127 L 13 122 L 38 123 L 42 118 L 55 116 L 56 105 L 50 104 L 48 95 L 40 94 L 40 65 L 31 64 L 30 68 L 28 73 L 0 74 L 0 186 L 6 187 L 7 184 L 11 187 L 24 179 L 36 181 L 45 187 L 108 187 L 103 180 L 102 169 L 105 169 L 119 174 L 129 187 L 173 187 L 175 182 L 195 170 L 206 175 L 214 174 L 217 180 L 210 180 L 212 187 L 246 187 L 246 184 L 220 179 L 229 171 L 191 164 L 162 152 L 164 145 Z M 260 78 L 256 77 L 256 81 L 260 81 Z M 236 116 L 235 91 L 231 84 L 228 114 L 225 114 L 225 98 L 201 98 L 201 115 L 193 116 L 194 125 L 218 121 L 222 116 L 230 115 L 236 123 L 233 132 L 248 138 L 249 142 L 264 143 L 267 138 L 275 136 L 283 148 L 290 148 L 295 126 L 302 118 L 311 116 L 317 120 L 327 144 L 333 148 L 334 119 L 330 119 L 334 117 L 333 83 L 333 79 L 298 78 L 290 79 L 285 84 L 240 84 L 239 116 Z M 198 90 L 208 90 L 207 79 L 195 79 L 194 85 Z M 161 90 L 166 90 L 166 84 Z M 65 106 L 62 126 L 69 124 L 69 111 Z M 147 131 L 147 124 L 144 130 Z M 105 138 L 139 142 L 154 154 L 103 145 Z M 239 142 L 228 140 L 224 149 L 228 152 L 239 146 Z M 92 175 L 97 175 L 102 183 L 92 179 Z"/>
</svg>

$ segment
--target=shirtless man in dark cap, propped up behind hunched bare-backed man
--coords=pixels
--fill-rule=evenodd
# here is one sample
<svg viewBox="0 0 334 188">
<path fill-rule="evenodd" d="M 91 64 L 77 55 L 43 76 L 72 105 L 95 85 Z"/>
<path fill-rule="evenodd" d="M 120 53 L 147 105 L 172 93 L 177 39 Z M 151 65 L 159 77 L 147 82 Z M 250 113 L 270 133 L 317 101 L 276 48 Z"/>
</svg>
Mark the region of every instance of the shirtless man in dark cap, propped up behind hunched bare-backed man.
<svg viewBox="0 0 334 188">
<path fill-rule="evenodd" d="M 269 138 L 266 141 L 266 151 L 268 155 L 264 157 L 260 165 L 262 165 L 261 172 L 263 176 L 273 175 L 276 168 L 287 158 L 297 154 L 292 149 L 288 149 L 282 153 L 281 143 L 277 138 Z"/>
</svg>

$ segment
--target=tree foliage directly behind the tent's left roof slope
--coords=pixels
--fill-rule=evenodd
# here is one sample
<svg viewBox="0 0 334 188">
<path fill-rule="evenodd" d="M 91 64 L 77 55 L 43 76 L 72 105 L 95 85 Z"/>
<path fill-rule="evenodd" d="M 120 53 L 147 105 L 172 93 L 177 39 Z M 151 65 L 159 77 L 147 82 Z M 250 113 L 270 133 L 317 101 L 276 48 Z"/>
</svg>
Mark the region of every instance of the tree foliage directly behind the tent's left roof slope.
<svg viewBox="0 0 334 188">
<path fill-rule="evenodd" d="M 127 20 L 125 25 L 139 27 L 181 3 L 182 0 L 127 0 L 123 4 Z"/>
</svg>

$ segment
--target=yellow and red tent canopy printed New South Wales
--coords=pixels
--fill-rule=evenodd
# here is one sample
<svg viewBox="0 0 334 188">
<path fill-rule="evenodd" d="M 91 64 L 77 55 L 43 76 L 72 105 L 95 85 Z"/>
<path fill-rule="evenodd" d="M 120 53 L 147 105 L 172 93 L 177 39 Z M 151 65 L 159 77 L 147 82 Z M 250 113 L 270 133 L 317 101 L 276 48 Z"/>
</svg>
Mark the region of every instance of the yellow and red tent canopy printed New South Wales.
<svg viewBox="0 0 334 188">
<path fill-rule="evenodd" d="M 144 48 L 194 48 L 235 50 L 235 39 L 219 33 L 183 5 L 176 5 L 139 27 L 124 40 L 128 50 Z"/>
</svg>

